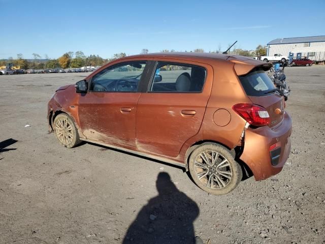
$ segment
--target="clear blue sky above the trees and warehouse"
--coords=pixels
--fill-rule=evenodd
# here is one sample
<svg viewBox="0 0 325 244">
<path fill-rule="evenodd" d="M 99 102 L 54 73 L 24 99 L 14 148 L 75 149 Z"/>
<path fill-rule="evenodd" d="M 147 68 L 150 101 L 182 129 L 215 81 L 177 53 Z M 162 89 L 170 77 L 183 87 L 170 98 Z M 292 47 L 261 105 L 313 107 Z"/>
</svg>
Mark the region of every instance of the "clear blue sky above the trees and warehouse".
<svg viewBox="0 0 325 244">
<path fill-rule="evenodd" d="M 325 35 L 325 1 L 0 0 L 0 58 L 68 51 L 128 55 L 163 49 L 255 49 L 276 38 Z"/>
</svg>

